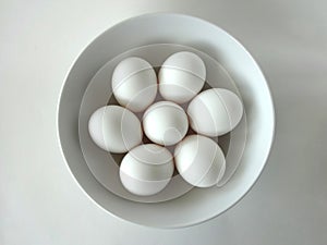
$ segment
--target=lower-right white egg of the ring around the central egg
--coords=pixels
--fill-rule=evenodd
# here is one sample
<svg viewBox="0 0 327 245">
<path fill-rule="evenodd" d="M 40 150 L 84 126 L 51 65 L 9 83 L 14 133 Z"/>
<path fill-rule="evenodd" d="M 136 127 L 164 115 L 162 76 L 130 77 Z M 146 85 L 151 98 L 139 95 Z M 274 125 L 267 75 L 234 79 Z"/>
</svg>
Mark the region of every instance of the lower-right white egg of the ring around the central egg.
<svg viewBox="0 0 327 245">
<path fill-rule="evenodd" d="M 191 135 L 174 150 L 175 167 L 181 176 L 197 187 L 210 187 L 223 176 L 226 160 L 222 150 L 213 139 Z"/>
</svg>

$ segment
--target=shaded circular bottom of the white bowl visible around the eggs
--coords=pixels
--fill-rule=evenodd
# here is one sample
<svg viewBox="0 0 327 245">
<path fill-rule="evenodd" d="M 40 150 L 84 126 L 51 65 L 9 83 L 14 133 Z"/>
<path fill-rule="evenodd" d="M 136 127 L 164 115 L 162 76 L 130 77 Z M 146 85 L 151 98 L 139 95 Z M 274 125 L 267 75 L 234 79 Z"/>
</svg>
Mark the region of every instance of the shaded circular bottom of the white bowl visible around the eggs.
<svg viewBox="0 0 327 245">
<path fill-rule="evenodd" d="M 204 89 L 220 87 L 239 94 L 238 88 L 229 74 L 216 60 L 194 48 L 173 44 L 148 45 L 123 52 L 108 61 L 96 73 L 84 93 L 80 109 L 78 135 L 85 162 L 97 181 L 100 182 L 108 191 L 119 195 L 120 197 L 142 203 L 158 203 L 180 197 L 193 188 L 192 185 L 187 184 L 179 174 L 177 174 L 169 182 L 168 186 L 156 195 L 145 197 L 129 193 L 122 186 L 119 177 L 119 164 L 124 155 L 113 155 L 101 150 L 94 144 L 88 134 L 88 120 L 92 113 L 96 109 L 106 106 L 108 103 L 108 98 L 110 98 L 109 105 L 118 105 L 112 96 L 110 77 L 120 61 L 128 57 L 140 57 L 150 62 L 154 68 L 159 68 L 169 56 L 185 50 L 196 53 L 205 62 L 207 75 Z M 239 96 L 241 97 L 241 95 Z M 158 99 L 161 99 L 160 96 L 158 96 Z M 182 107 L 186 109 L 187 103 L 182 105 Z M 142 121 L 143 113 L 137 113 L 137 115 Z M 219 186 L 222 186 L 232 176 L 240 163 L 239 159 L 242 157 L 246 142 L 246 117 L 242 118 L 242 121 L 239 123 L 238 127 L 232 131 L 232 133 L 219 138 L 214 137 L 213 139 L 218 142 L 226 155 L 227 170 L 223 179 L 219 182 Z M 173 147 L 169 147 L 169 149 L 173 151 Z"/>
</svg>

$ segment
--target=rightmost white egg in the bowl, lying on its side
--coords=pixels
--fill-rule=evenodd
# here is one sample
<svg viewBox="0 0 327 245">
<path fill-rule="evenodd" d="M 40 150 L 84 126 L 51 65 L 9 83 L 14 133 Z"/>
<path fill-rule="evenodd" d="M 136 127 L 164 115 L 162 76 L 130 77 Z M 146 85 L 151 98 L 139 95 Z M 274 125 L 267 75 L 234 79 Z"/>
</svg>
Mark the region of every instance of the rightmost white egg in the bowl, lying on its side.
<svg viewBox="0 0 327 245">
<path fill-rule="evenodd" d="M 243 105 L 234 93 L 211 88 L 191 101 L 187 114 L 195 132 L 214 137 L 232 131 L 239 124 L 243 115 Z"/>
</svg>

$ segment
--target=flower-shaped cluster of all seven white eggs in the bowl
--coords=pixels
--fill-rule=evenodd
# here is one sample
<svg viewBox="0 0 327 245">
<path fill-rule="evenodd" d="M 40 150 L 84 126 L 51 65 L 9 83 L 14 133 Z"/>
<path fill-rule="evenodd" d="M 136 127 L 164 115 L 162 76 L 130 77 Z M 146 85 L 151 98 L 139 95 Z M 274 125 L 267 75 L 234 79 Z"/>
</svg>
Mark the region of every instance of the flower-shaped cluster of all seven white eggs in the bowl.
<svg viewBox="0 0 327 245">
<path fill-rule="evenodd" d="M 116 66 L 111 85 L 120 106 L 97 109 L 88 130 L 104 150 L 128 152 L 120 164 L 120 180 L 129 192 L 141 196 L 159 193 L 171 180 L 174 167 L 197 187 L 221 180 L 225 155 L 210 137 L 232 131 L 241 121 L 243 105 L 228 89 L 199 93 L 205 79 L 203 60 L 189 51 L 170 56 L 158 77 L 154 68 L 137 57 Z M 158 91 L 161 101 L 155 101 Z M 195 134 L 186 135 L 189 125 Z M 152 143 L 142 143 L 143 132 Z"/>
</svg>

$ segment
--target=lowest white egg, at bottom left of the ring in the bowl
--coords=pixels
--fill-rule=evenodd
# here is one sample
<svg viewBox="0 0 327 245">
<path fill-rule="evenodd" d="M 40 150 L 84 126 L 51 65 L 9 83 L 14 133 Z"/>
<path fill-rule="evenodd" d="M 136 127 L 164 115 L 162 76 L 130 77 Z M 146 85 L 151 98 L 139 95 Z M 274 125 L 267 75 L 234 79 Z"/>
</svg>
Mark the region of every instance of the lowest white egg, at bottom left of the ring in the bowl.
<svg viewBox="0 0 327 245">
<path fill-rule="evenodd" d="M 173 174 L 172 155 L 165 147 L 147 144 L 132 149 L 120 166 L 120 180 L 131 193 L 149 196 L 166 187 Z"/>
</svg>

